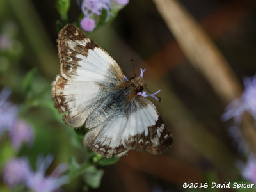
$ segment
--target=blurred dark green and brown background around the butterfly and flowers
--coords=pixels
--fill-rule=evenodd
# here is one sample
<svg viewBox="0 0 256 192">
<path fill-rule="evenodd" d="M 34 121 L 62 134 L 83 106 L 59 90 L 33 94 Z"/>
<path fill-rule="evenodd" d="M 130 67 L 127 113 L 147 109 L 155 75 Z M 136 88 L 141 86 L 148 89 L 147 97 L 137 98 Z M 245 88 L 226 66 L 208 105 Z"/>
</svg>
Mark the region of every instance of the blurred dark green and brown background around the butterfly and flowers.
<svg viewBox="0 0 256 192">
<path fill-rule="evenodd" d="M 254 0 L 179 2 L 214 40 L 241 83 L 255 74 Z M 54 154 L 52 169 L 69 164 L 70 182 L 63 191 L 227 191 L 182 184 L 244 181 L 236 165 L 246 160 L 237 150 L 242 141 L 228 131 L 232 122 L 221 120 L 226 104 L 186 60 L 155 4 L 131 0 L 115 16 L 89 34 L 127 77 L 133 76 L 131 58 L 137 73 L 147 68 L 148 88 L 162 90 L 162 101 L 152 101 L 173 134 L 172 148 L 161 156 L 129 152 L 117 163 L 84 148 L 83 129 L 75 132 L 63 124 L 51 100 L 51 83 L 60 72 L 56 38 L 66 23 L 79 26 L 77 2 L 0 0 L 0 88 L 12 90 L 9 100 L 35 132 L 33 145 L 19 151 L 7 139 L 0 141 L 1 169 L 10 157 L 26 156 L 35 168 L 38 154 Z M 0 191 L 8 190 L 1 182 Z"/>
</svg>

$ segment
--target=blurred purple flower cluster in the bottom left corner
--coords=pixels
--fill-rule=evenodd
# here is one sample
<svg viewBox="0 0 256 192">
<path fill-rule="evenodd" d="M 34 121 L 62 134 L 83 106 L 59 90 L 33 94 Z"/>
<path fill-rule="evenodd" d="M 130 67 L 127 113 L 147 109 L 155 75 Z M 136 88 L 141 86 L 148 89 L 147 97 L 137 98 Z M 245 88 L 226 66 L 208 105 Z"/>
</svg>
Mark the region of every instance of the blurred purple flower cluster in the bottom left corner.
<svg viewBox="0 0 256 192">
<path fill-rule="evenodd" d="M 38 157 L 36 171 L 33 172 L 28 159 L 15 158 L 8 161 L 3 170 L 3 181 L 10 187 L 23 184 L 35 192 L 51 192 L 60 188 L 68 182 L 68 176 L 61 173 L 67 170 L 67 164 L 59 164 L 51 175 L 45 176 L 45 172 L 53 161 L 53 157 L 48 155 L 43 159 Z"/>
</svg>

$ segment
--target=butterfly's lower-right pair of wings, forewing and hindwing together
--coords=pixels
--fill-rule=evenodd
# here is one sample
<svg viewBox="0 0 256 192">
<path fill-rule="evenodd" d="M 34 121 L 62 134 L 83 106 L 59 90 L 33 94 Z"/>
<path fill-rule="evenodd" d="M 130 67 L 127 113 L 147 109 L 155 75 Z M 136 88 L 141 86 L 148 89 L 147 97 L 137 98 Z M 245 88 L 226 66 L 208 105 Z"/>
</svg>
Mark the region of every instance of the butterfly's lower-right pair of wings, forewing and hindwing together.
<svg viewBox="0 0 256 192">
<path fill-rule="evenodd" d="M 124 101 L 115 106 L 115 111 L 84 137 L 84 144 L 94 152 L 104 157 L 120 157 L 128 150 L 160 154 L 172 145 L 172 135 L 161 116 L 144 97 L 137 96 L 130 103 Z"/>
</svg>

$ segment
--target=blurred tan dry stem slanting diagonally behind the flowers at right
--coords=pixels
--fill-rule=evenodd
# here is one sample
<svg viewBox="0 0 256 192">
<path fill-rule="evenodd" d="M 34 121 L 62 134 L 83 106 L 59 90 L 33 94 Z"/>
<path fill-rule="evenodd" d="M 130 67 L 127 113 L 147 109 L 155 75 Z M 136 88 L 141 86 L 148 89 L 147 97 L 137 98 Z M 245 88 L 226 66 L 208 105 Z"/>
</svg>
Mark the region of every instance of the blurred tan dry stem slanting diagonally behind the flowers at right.
<svg viewBox="0 0 256 192">
<path fill-rule="evenodd" d="M 243 89 L 232 68 L 204 29 L 175 0 L 153 0 L 182 51 L 205 76 L 225 104 L 240 97 Z M 256 154 L 256 130 L 250 115 L 243 116 L 241 132 Z"/>
</svg>

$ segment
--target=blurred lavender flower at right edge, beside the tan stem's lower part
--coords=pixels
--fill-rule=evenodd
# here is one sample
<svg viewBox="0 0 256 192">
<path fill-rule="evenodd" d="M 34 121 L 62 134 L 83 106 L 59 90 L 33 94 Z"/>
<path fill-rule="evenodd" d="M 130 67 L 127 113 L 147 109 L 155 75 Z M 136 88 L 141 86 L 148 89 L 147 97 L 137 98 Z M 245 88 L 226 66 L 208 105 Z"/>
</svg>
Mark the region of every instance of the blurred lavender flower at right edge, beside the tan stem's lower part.
<svg viewBox="0 0 256 192">
<path fill-rule="evenodd" d="M 239 99 L 231 102 L 225 109 L 223 120 L 234 118 L 241 122 L 244 111 L 248 111 L 256 120 L 256 75 L 244 78 L 244 92 Z"/>
</svg>

